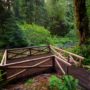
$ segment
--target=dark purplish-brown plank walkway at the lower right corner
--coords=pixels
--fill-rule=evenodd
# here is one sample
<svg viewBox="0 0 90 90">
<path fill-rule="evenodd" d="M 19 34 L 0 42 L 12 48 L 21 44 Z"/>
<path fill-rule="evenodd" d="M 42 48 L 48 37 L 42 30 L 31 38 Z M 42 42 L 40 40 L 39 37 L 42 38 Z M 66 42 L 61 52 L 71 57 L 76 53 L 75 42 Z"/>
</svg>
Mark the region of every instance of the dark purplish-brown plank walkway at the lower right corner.
<svg viewBox="0 0 90 90">
<path fill-rule="evenodd" d="M 90 72 L 86 71 L 84 68 L 70 67 L 69 74 L 79 79 L 80 85 L 84 87 L 85 90 L 90 90 Z"/>
</svg>

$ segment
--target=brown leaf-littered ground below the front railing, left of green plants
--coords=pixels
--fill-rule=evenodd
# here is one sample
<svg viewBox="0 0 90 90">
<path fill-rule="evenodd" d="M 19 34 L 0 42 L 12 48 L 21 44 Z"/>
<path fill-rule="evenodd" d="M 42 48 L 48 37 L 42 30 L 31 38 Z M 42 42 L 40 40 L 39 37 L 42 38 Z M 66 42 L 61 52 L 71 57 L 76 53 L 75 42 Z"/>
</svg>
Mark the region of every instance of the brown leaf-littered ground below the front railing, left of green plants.
<svg viewBox="0 0 90 90">
<path fill-rule="evenodd" d="M 49 77 L 51 74 L 42 74 L 34 78 L 7 85 L 3 90 L 49 90 Z"/>
</svg>

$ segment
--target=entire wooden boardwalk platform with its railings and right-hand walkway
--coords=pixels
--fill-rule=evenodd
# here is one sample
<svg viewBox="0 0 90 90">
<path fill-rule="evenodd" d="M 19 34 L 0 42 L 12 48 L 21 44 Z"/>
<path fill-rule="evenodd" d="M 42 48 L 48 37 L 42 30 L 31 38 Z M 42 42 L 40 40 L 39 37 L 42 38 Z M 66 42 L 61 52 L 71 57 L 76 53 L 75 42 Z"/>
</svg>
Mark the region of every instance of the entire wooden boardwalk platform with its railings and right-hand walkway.
<svg viewBox="0 0 90 90">
<path fill-rule="evenodd" d="M 7 81 L 56 71 L 74 76 L 85 90 L 90 90 L 90 72 L 81 68 L 83 59 L 52 46 L 16 48 L 5 50 L 0 68 Z"/>
</svg>

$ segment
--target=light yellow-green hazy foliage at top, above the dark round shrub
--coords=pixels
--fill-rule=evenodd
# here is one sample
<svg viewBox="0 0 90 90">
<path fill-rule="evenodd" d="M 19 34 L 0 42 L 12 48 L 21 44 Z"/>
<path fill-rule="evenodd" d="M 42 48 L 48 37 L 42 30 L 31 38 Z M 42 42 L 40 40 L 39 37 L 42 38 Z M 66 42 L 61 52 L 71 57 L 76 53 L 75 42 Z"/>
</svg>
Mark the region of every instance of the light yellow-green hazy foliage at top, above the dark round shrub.
<svg viewBox="0 0 90 90">
<path fill-rule="evenodd" d="M 50 17 L 58 17 L 58 19 L 64 20 L 66 15 L 66 0 L 46 0 L 46 9 Z"/>
</svg>

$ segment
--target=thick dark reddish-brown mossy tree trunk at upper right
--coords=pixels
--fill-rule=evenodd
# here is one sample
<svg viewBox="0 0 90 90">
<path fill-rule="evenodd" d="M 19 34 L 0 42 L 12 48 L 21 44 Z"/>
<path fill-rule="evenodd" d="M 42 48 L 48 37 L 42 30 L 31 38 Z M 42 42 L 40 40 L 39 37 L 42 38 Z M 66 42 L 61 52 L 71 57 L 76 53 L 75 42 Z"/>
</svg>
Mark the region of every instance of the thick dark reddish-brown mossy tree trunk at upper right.
<svg viewBox="0 0 90 90">
<path fill-rule="evenodd" d="M 90 30 L 86 10 L 86 0 L 74 0 L 76 24 L 80 36 L 80 45 L 89 42 Z"/>
</svg>

